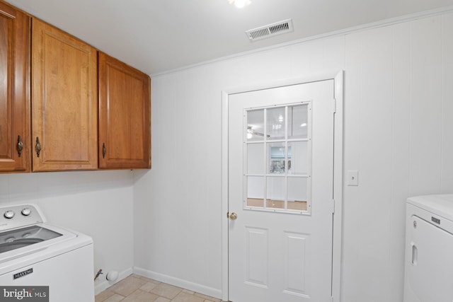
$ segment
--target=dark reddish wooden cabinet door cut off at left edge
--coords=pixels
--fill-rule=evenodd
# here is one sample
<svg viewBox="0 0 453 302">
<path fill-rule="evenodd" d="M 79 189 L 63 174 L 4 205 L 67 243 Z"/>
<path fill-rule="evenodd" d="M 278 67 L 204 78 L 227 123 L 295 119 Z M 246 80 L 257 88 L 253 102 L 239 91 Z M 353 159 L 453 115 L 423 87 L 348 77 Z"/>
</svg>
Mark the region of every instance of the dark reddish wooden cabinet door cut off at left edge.
<svg viewBox="0 0 453 302">
<path fill-rule="evenodd" d="M 0 2 L 0 172 L 30 170 L 29 58 L 30 18 Z"/>
</svg>

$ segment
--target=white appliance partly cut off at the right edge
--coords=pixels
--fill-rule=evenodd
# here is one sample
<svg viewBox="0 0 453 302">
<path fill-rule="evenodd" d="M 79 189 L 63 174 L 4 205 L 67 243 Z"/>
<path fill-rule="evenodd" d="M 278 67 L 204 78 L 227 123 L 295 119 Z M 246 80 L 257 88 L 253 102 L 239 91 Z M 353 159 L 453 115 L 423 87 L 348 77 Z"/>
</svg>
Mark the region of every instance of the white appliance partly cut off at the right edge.
<svg viewBox="0 0 453 302">
<path fill-rule="evenodd" d="M 453 301 L 453 194 L 406 203 L 404 302 Z"/>
</svg>

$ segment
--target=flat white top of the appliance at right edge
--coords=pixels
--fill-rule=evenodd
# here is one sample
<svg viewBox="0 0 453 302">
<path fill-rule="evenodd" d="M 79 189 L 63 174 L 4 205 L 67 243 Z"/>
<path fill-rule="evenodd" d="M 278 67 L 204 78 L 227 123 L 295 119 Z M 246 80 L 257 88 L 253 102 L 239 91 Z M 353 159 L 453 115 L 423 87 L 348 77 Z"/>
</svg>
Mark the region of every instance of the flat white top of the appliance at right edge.
<svg viewBox="0 0 453 302">
<path fill-rule="evenodd" d="M 407 203 L 453 221 L 453 194 L 409 197 Z"/>
</svg>

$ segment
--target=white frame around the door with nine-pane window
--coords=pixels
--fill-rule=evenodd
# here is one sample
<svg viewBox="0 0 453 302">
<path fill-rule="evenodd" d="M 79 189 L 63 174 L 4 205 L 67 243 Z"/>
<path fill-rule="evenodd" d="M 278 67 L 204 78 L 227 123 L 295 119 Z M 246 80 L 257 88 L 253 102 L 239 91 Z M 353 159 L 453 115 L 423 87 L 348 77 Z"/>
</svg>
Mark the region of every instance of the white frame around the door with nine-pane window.
<svg viewBox="0 0 453 302">
<path fill-rule="evenodd" d="M 229 95 L 246 93 L 268 88 L 278 88 L 316 81 L 334 81 L 334 95 L 336 99 L 336 114 L 333 127 L 333 199 L 335 212 L 333 214 L 332 238 L 332 297 L 333 301 L 340 301 L 341 277 L 341 238 L 343 217 L 343 73 L 336 71 L 328 74 L 318 74 L 292 79 L 268 81 L 264 83 L 250 83 L 245 86 L 226 88 L 222 90 L 222 300 L 229 301 L 228 284 L 228 106 Z"/>
</svg>

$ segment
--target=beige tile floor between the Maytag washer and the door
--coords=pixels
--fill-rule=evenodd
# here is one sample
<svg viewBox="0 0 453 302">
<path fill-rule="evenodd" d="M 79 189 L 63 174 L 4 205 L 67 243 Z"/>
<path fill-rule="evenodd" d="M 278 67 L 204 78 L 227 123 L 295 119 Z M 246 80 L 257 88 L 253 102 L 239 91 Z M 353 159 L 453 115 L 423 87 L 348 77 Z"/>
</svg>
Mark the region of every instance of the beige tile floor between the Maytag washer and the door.
<svg viewBox="0 0 453 302">
<path fill-rule="evenodd" d="M 96 295 L 96 302 L 220 302 L 187 289 L 131 274 Z"/>
</svg>

